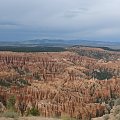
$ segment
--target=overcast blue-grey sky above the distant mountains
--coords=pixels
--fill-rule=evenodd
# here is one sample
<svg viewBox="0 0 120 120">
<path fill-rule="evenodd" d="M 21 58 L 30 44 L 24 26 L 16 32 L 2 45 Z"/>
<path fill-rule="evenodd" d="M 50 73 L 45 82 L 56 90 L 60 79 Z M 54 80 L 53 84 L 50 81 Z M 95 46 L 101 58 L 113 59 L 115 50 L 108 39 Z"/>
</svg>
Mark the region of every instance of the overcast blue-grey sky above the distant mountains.
<svg viewBox="0 0 120 120">
<path fill-rule="evenodd" d="M 0 41 L 120 41 L 120 0 L 0 0 Z"/>
</svg>

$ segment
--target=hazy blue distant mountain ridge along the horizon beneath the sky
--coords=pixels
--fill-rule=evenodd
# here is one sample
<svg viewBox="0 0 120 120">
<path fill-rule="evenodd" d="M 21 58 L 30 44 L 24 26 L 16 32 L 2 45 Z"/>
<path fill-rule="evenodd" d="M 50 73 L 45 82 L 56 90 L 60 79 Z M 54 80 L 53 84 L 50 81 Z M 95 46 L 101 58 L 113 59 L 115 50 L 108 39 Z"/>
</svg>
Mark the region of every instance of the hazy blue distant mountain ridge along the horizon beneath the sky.
<svg viewBox="0 0 120 120">
<path fill-rule="evenodd" d="M 51 47 L 68 47 L 73 45 L 85 45 L 96 47 L 120 48 L 120 42 L 104 42 L 89 40 L 61 40 L 61 39 L 35 39 L 26 41 L 0 42 L 0 46 L 51 46 Z"/>
</svg>

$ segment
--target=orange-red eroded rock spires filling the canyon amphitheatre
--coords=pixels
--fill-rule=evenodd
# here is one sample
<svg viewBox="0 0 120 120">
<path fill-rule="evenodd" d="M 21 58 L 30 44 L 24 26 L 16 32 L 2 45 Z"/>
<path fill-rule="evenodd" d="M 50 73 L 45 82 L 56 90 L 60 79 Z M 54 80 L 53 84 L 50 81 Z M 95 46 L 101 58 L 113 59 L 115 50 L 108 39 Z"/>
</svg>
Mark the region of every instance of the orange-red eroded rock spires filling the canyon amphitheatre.
<svg viewBox="0 0 120 120">
<path fill-rule="evenodd" d="M 106 62 L 73 52 L 1 52 L 0 102 L 6 106 L 14 95 L 16 110 L 24 109 L 23 114 L 34 106 L 44 117 L 90 120 L 109 113 L 120 96 L 119 71 L 118 58 Z"/>
</svg>

